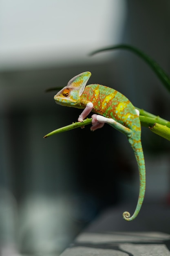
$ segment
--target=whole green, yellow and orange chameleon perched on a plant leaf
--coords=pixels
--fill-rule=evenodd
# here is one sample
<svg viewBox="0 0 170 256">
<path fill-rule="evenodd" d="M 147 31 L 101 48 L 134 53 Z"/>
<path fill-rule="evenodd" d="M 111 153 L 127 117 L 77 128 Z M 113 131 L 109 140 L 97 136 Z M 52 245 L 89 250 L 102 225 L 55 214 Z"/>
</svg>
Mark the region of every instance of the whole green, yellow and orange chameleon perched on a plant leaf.
<svg viewBox="0 0 170 256">
<path fill-rule="evenodd" d="M 91 72 L 88 71 L 74 76 L 62 90 L 57 92 L 54 100 L 62 106 L 84 109 L 78 117 L 79 122 L 83 122 L 90 112 L 94 112 L 92 131 L 102 128 L 106 123 L 126 135 L 135 153 L 140 182 L 136 209 L 132 216 L 125 211 L 123 218 L 127 221 L 134 220 L 141 209 L 146 187 L 139 110 L 136 110 L 123 94 L 113 88 L 100 84 L 86 85 L 90 76 Z"/>
</svg>

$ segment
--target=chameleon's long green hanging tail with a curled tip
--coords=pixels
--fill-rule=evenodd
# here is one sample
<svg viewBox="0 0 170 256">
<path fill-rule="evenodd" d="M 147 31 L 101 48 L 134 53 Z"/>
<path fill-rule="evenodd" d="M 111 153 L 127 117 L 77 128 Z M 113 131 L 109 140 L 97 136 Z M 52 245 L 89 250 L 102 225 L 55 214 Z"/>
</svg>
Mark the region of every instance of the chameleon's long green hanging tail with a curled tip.
<svg viewBox="0 0 170 256">
<path fill-rule="evenodd" d="M 132 146 L 132 149 L 134 150 L 135 157 L 137 159 L 137 164 L 139 168 L 139 177 L 140 177 L 140 189 L 139 189 L 139 198 L 137 202 L 137 207 L 133 215 L 130 217 L 130 213 L 128 211 L 125 211 L 123 213 L 123 218 L 124 220 L 127 220 L 127 221 L 134 220 L 137 217 L 144 200 L 145 187 L 146 187 L 145 160 L 144 160 L 144 153 L 142 150 L 141 140 L 139 139 L 138 141 L 134 142 L 134 140 L 129 139 L 129 142 Z"/>
</svg>

